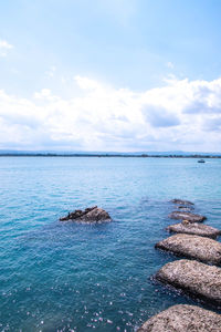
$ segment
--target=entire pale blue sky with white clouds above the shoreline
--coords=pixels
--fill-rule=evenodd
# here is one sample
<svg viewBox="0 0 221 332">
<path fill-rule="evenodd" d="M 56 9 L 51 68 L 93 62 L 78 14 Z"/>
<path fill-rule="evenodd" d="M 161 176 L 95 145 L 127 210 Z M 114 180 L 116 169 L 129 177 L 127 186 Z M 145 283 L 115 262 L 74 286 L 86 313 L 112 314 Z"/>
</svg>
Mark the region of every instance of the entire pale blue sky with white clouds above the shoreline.
<svg viewBox="0 0 221 332">
<path fill-rule="evenodd" d="M 0 1 L 0 149 L 221 152 L 220 0 Z"/>
</svg>

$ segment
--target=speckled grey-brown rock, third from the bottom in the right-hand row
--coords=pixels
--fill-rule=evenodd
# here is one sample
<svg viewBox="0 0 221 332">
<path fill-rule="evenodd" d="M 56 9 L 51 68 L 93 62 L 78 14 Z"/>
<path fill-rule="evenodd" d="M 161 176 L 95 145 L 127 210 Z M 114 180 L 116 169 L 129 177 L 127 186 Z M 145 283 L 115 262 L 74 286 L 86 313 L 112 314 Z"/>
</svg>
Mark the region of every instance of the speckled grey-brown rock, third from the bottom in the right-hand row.
<svg viewBox="0 0 221 332">
<path fill-rule="evenodd" d="M 155 248 L 208 263 L 221 263 L 221 243 L 204 237 L 177 234 L 158 242 Z"/>
</svg>

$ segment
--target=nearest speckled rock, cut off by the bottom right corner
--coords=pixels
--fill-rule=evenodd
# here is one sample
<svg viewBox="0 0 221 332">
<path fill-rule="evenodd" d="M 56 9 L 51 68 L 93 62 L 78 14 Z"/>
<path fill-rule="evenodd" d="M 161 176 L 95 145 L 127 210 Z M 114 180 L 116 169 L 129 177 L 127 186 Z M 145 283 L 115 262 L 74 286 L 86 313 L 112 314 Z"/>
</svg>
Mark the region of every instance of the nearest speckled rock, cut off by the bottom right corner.
<svg viewBox="0 0 221 332">
<path fill-rule="evenodd" d="M 220 332 L 221 315 L 196 305 L 179 304 L 154 315 L 137 332 Z"/>
</svg>

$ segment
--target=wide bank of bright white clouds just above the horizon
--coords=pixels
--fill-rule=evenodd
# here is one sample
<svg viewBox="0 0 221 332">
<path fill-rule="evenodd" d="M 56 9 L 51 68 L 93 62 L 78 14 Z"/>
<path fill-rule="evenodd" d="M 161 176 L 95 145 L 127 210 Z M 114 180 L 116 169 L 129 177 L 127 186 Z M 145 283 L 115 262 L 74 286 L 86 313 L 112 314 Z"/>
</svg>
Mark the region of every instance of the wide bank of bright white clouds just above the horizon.
<svg viewBox="0 0 221 332">
<path fill-rule="evenodd" d="M 0 91 L 0 148 L 220 151 L 221 79 L 172 76 L 144 92 L 75 81 L 73 98 L 49 89 L 29 100 Z"/>
</svg>

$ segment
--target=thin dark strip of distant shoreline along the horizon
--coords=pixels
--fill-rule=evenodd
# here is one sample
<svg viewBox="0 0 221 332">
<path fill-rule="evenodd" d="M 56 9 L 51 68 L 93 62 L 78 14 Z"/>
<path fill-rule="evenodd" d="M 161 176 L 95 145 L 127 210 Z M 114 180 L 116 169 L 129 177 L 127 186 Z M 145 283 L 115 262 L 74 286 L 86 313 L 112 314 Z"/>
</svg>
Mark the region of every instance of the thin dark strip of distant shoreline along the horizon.
<svg viewBox="0 0 221 332">
<path fill-rule="evenodd" d="M 0 157 L 101 157 L 101 158 L 203 158 L 203 159 L 220 159 L 221 156 L 219 155 L 148 155 L 148 154 L 141 154 L 141 155 L 124 155 L 124 154 L 0 154 Z"/>
</svg>

